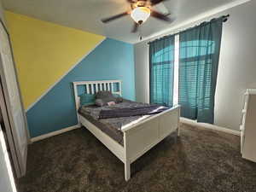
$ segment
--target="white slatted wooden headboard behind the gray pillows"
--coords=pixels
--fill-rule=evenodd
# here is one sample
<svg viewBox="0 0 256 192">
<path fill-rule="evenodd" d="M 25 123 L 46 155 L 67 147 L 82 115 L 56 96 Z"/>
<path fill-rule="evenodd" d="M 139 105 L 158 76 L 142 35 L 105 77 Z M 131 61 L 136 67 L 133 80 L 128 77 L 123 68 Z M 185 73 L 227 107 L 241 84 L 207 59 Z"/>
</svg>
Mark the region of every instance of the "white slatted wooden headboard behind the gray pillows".
<svg viewBox="0 0 256 192">
<path fill-rule="evenodd" d="M 121 80 L 104 80 L 104 81 L 76 81 L 73 82 L 73 91 L 75 96 L 76 110 L 80 108 L 80 97 L 78 86 L 84 86 L 83 93 L 95 94 L 99 90 L 109 90 L 113 94 L 122 96 Z M 82 94 L 83 94 L 82 93 Z M 79 117 L 79 115 L 78 115 Z"/>
</svg>

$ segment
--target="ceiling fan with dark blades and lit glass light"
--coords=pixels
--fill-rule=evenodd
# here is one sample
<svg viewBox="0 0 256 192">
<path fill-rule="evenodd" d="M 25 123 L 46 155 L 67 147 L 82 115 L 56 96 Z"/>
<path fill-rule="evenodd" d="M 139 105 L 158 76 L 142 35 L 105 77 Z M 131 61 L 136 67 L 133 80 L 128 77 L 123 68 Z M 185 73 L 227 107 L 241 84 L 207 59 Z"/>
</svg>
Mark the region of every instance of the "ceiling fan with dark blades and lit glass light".
<svg viewBox="0 0 256 192">
<path fill-rule="evenodd" d="M 102 19 L 103 23 L 108 23 L 112 20 L 119 19 L 125 15 L 131 15 L 131 18 L 135 21 L 134 26 L 131 32 L 137 32 L 138 26 L 142 25 L 149 16 L 152 16 L 158 20 L 164 20 L 171 23 L 173 20 L 168 15 L 161 14 L 158 11 L 152 9 L 154 5 L 162 3 L 166 0 L 126 0 L 128 3 L 131 3 L 131 10 L 125 11 L 119 15 L 113 15 L 111 17 Z"/>
</svg>

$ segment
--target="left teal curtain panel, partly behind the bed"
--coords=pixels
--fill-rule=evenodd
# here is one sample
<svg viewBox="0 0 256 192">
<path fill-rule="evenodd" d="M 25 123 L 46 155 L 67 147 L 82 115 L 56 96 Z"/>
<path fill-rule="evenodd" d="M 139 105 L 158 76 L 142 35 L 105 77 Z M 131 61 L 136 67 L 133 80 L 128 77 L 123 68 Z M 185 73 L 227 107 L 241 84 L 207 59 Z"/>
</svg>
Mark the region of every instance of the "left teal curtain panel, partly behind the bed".
<svg viewBox="0 0 256 192">
<path fill-rule="evenodd" d="M 150 103 L 172 107 L 174 76 L 174 36 L 149 44 Z"/>
</svg>

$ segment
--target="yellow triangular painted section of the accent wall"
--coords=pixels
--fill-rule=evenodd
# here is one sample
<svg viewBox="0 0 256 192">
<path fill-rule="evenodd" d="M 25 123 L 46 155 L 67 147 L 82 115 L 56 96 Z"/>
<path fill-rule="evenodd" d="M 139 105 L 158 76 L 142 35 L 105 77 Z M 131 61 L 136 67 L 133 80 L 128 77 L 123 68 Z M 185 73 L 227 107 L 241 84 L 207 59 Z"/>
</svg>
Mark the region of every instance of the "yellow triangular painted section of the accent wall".
<svg viewBox="0 0 256 192">
<path fill-rule="evenodd" d="M 9 11 L 5 17 L 26 109 L 105 38 Z"/>
</svg>

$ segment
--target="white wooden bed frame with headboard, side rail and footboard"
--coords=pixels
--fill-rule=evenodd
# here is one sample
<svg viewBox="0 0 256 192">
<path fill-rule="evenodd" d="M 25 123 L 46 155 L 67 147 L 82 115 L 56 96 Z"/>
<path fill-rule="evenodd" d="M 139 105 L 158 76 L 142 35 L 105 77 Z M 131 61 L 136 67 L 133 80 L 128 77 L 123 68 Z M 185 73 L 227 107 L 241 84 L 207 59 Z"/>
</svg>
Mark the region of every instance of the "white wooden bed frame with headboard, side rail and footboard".
<svg viewBox="0 0 256 192">
<path fill-rule="evenodd" d="M 113 84 L 119 84 L 119 90 L 113 90 Z M 84 85 L 84 92 L 94 94 L 98 90 L 110 90 L 121 96 L 121 81 L 79 81 L 73 82 L 76 109 L 79 110 L 80 101 L 78 96 L 78 86 Z M 125 164 L 125 180 L 131 178 L 131 163 L 145 154 L 150 148 L 160 143 L 172 132 L 177 131 L 179 136 L 179 116 L 180 108 L 176 106 L 165 112 L 155 114 L 148 119 L 142 119 L 133 125 L 127 125 L 122 129 L 124 133 L 124 146 L 117 143 L 113 138 L 101 131 L 96 125 L 90 123 L 78 113 L 79 124 L 84 125 L 97 139 L 99 139 L 119 160 Z"/>
</svg>

